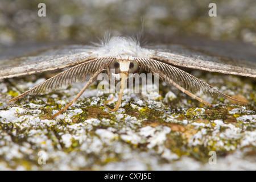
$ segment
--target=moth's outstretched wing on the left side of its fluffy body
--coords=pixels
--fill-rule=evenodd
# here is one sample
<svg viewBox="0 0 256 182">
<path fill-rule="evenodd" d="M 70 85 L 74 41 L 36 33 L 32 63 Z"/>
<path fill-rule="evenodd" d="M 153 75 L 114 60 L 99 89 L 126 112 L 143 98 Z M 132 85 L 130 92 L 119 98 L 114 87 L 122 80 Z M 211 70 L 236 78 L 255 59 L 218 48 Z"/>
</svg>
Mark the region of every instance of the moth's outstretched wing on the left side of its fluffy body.
<svg viewBox="0 0 256 182">
<path fill-rule="evenodd" d="M 20 49 L 20 47 L 13 48 L 11 51 L 20 52 Z M 93 55 L 95 49 L 96 47 L 92 46 L 65 46 L 48 48 L 43 51 L 23 52 L 23 55 L 26 56 L 1 55 L 0 79 L 53 71 L 81 64 L 97 57 L 97 55 Z M 3 51 L 4 49 L 0 49 L 0 52 Z"/>
</svg>

